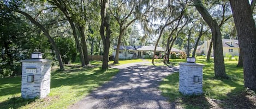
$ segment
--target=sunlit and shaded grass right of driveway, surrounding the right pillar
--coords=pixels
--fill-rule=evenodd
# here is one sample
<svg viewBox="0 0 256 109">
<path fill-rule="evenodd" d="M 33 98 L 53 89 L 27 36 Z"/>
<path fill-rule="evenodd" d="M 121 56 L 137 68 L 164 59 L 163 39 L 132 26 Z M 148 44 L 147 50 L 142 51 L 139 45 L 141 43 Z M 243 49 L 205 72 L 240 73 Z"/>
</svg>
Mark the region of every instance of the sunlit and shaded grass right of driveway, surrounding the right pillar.
<svg viewBox="0 0 256 109">
<path fill-rule="evenodd" d="M 179 62 L 184 62 L 186 60 L 170 61 L 170 65 L 176 66 Z M 178 91 L 179 75 L 178 72 L 176 72 L 167 76 L 159 86 L 162 94 L 165 97 L 168 97 L 171 102 L 176 102 L 183 108 L 237 108 L 237 104 L 242 104 L 242 102 L 237 104 L 234 102 L 237 101 L 237 99 L 243 98 L 243 102 L 252 102 L 251 104 L 248 104 L 246 108 L 256 107 L 255 93 L 248 93 L 248 91 L 245 91 L 245 88 L 243 88 L 243 68 L 236 67 L 237 61 L 225 61 L 226 73 L 230 77 L 228 80 L 214 78 L 214 63 L 212 60 L 206 62 L 205 60 L 198 59 L 197 63 L 205 65 L 203 67 L 204 94 L 199 96 L 192 95 L 189 97 L 182 95 Z M 217 100 L 217 103 L 212 103 L 211 100 Z"/>
</svg>

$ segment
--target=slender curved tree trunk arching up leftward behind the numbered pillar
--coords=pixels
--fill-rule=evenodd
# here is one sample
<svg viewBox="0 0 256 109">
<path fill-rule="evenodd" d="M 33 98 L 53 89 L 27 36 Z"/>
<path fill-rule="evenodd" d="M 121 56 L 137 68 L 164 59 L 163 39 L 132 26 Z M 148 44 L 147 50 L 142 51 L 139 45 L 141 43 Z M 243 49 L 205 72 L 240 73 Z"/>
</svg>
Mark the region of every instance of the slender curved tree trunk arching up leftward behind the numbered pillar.
<svg viewBox="0 0 256 109">
<path fill-rule="evenodd" d="M 26 12 L 23 12 L 20 10 L 16 10 L 16 11 L 19 12 L 20 14 L 26 16 L 33 24 L 37 25 L 37 27 L 39 27 L 44 32 L 44 35 L 47 37 L 47 39 L 51 43 L 52 48 L 56 52 L 56 56 L 57 56 L 58 63 L 59 63 L 59 69 L 64 70 L 63 62 L 61 59 L 61 54 L 60 54 L 59 49 L 56 46 L 54 40 L 51 38 L 49 32 L 43 27 L 43 25 L 41 25 L 39 22 L 35 21 L 34 18 L 32 16 L 30 16 L 29 14 L 27 14 Z"/>
</svg>

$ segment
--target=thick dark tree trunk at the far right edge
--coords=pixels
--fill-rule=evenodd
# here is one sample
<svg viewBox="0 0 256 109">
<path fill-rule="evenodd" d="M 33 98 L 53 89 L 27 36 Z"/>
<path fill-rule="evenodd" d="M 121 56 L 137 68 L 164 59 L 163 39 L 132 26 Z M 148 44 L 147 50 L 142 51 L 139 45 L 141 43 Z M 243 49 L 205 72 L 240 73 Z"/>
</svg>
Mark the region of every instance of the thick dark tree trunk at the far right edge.
<svg viewBox="0 0 256 109">
<path fill-rule="evenodd" d="M 230 0 L 243 60 L 245 87 L 256 91 L 256 27 L 248 1 Z"/>
</svg>

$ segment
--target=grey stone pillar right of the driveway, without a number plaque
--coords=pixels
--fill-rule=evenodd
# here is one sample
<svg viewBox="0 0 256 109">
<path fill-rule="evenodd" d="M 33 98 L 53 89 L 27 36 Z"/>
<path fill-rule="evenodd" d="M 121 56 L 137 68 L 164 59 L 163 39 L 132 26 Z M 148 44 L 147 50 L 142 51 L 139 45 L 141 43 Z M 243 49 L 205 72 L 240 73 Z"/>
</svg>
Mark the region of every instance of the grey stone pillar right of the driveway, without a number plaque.
<svg viewBox="0 0 256 109">
<path fill-rule="evenodd" d="M 203 66 L 197 63 L 180 63 L 179 91 L 182 94 L 203 93 Z"/>
</svg>

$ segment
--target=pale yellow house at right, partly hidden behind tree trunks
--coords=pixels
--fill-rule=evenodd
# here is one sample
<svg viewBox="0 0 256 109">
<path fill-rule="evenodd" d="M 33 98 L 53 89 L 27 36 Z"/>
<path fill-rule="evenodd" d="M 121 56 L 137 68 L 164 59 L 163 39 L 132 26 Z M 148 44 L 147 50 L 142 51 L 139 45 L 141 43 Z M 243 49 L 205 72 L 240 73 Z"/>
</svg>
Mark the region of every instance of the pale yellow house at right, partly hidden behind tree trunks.
<svg viewBox="0 0 256 109">
<path fill-rule="evenodd" d="M 222 39 L 223 46 L 223 56 L 226 54 L 231 54 L 232 56 L 239 56 L 239 42 L 234 39 Z M 197 54 L 201 54 L 202 52 L 206 55 L 210 47 L 210 40 L 205 41 L 201 46 L 197 48 Z M 213 56 L 213 47 L 211 50 L 211 56 Z"/>
</svg>

